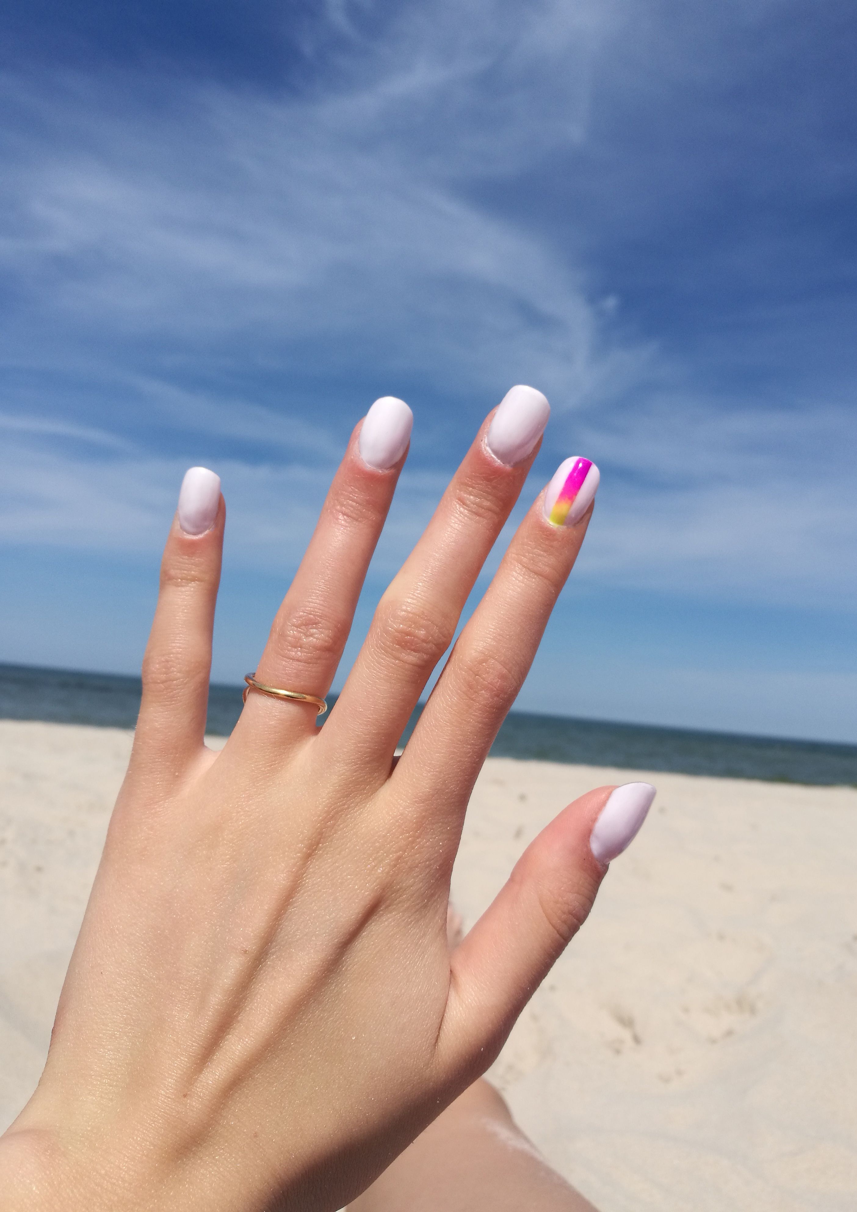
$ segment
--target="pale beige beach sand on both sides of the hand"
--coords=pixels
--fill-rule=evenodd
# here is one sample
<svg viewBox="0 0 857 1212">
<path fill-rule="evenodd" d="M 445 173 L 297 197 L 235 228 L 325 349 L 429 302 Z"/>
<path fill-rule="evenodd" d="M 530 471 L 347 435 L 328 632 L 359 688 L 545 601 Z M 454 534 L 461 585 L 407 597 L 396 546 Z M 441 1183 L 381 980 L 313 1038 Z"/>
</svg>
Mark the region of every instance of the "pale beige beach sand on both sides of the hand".
<svg viewBox="0 0 857 1212">
<path fill-rule="evenodd" d="M 0 1126 L 41 1069 L 131 734 L 0 721 Z M 857 1206 L 857 790 L 490 760 L 472 922 L 581 791 L 656 807 L 493 1077 L 602 1212 Z"/>
</svg>

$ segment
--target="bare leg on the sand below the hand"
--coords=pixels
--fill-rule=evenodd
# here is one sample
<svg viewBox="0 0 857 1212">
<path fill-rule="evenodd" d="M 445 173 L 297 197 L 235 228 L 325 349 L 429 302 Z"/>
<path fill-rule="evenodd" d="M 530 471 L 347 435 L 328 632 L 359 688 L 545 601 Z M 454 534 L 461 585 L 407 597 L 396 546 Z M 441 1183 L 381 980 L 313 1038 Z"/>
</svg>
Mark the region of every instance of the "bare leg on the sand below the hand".
<svg viewBox="0 0 857 1212">
<path fill-rule="evenodd" d="M 596 1212 L 479 1080 L 347 1212 Z"/>
</svg>

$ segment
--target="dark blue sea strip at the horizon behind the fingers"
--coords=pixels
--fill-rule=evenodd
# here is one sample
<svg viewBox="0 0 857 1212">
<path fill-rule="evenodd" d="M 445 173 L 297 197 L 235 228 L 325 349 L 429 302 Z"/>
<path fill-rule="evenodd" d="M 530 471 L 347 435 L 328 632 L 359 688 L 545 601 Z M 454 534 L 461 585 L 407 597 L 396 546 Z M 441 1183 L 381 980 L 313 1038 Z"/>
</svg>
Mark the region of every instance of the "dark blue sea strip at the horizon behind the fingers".
<svg viewBox="0 0 857 1212">
<path fill-rule="evenodd" d="M 211 687 L 211 733 L 228 736 L 231 732 L 241 711 L 241 690 L 240 686 Z M 133 728 L 139 699 L 139 678 L 0 664 L 0 719 Z M 419 710 L 408 725 L 406 739 Z M 857 787 L 857 745 L 656 728 L 524 711 L 510 713 L 491 754 L 629 770 Z"/>
</svg>

